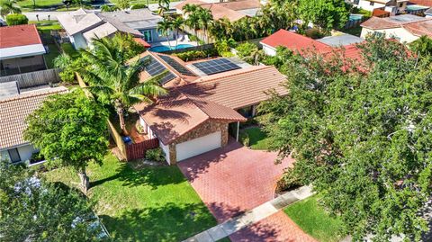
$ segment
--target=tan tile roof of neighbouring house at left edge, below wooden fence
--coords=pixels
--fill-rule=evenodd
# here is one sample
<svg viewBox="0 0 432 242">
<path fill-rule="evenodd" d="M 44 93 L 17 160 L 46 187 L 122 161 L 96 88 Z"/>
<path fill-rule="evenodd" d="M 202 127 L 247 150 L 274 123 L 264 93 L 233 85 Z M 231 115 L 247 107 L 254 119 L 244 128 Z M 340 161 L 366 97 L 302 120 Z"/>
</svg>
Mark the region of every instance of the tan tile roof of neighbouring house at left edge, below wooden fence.
<svg viewBox="0 0 432 242">
<path fill-rule="evenodd" d="M 18 94 L 0 101 L 0 149 L 28 143 L 23 139 L 26 129 L 25 118 L 40 107 L 49 95 L 66 93 L 67 88 L 59 86 L 49 90 Z"/>
</svg>

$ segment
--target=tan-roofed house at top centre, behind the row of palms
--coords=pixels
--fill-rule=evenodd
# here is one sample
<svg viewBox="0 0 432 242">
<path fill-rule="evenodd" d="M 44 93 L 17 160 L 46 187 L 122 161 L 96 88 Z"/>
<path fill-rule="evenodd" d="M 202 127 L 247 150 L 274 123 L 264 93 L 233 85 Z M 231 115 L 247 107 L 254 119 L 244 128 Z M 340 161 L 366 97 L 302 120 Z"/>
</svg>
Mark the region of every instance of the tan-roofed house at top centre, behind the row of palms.
<svg viewBox="0 0 432 242">
<path fill-rule="evenodd" d="M 202 8 L 210 9 L 214 20 L 227 18 L 230 22 L 236 22 L 247 16 L 255 16 L 261 9 L 261 4 L 258 0 L 240 0 L 220 3 L 209 3 L 204 0 L 185 0 L 181 4 L 175 5 L 177 13 L 183 14 L 184 18 L 187 18 L 187 15 L 183 12 L 185 4 L 195 4 L 202 6 Z"/>
</svg>

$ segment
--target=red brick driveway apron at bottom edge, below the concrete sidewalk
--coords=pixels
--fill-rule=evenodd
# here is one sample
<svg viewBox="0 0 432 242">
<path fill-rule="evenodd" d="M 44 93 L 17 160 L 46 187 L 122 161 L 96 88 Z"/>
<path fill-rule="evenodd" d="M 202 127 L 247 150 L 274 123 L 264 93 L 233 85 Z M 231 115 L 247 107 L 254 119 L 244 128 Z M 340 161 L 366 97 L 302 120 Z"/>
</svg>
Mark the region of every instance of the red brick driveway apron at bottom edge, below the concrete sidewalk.
<svg viewBox="0 0 432 242">
<path fill-rule="evenodd" d="M 300 229 L 284 211 L 238 230 L 229 236 L 232 242 L 315 242 Z"/>
</svg>

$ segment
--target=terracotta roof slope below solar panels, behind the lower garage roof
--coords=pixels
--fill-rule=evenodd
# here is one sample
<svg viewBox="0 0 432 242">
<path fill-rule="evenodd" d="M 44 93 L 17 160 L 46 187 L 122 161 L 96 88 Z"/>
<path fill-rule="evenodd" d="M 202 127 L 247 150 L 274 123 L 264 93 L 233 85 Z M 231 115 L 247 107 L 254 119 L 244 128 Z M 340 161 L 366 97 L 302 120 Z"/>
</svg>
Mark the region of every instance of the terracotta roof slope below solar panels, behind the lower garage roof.
<svg viewBox="0 0 432 242">
<path fill-rule="evenodd" d="M 190 96 L 220 103 L 231 109 L 247 107 L 268 99 L 266 91 L 275 89 L 287 94 L 283 76 L 275 67 L 253 66 L 229 72 L 202 76 L 194 83 L 177 89 Z"/>
</svg>

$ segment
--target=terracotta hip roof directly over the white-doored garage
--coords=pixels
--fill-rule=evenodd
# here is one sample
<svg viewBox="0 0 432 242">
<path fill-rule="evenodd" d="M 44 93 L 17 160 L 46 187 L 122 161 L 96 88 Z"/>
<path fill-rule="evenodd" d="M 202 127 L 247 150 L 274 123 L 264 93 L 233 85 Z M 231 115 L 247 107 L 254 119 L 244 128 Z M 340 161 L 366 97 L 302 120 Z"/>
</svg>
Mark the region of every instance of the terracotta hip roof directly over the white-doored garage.
<svg viewBox="0 0 432 242">
<path fill-rule="evenodd" d="M 157 103 L 134 105 L 157 139 L 168 145 L 198 127 L 204 121 L 246 121 L 238 112 L 211 101 L 194 98 L 176 91 Z"/>
</svg>

